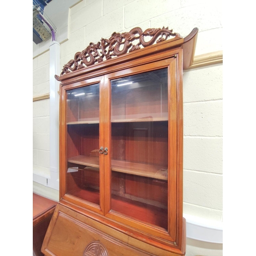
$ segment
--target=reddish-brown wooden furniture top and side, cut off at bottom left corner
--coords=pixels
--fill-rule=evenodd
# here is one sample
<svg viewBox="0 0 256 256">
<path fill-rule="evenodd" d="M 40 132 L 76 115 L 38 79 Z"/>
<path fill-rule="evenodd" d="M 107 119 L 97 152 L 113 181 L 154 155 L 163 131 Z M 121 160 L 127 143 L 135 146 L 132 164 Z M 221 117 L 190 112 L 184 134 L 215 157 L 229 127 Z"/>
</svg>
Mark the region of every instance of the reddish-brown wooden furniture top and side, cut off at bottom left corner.
<svg viewBox="0 0 256 256">
<path fill-rule="evenodd" d="M 33 193 L 33 255 L 41 256 L 42 242 L 57 202 Z"/>
</svg>

